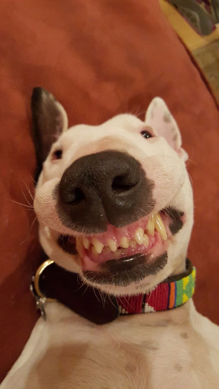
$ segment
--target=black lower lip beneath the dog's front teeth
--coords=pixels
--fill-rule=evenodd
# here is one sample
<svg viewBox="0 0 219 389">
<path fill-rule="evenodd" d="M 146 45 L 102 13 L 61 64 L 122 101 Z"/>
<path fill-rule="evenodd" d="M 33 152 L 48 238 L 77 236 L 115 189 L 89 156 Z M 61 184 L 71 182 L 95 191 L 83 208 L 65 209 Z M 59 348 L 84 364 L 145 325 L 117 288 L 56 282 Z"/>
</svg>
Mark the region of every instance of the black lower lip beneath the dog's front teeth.
<svg viewBox="0 0 219 389">
<path fill-rule="evenodd" d="M 149 275 L 156 275 L 166 265 L 167 252 L 153 262 L 148 262 L 149 255 L 135 254 L 133 256 L 112 259 L 100 265 L 98 272 L 87 270 L 84 277 L 96 284 L 111 284 L 114 286 L 128 286 L 133 282 L 140 282 Z"/>
</svg>

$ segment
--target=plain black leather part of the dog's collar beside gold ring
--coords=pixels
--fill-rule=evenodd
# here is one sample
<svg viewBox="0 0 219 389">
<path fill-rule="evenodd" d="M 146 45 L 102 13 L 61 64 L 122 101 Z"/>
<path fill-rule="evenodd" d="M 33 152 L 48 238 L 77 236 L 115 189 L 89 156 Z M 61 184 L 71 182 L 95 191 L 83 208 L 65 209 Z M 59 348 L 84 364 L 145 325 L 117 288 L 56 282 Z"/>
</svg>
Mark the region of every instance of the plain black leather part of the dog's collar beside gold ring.
<svg viewBox="0 0 219 389">
<path fill-rule="evenodd" d="M 82 284 L 78 274 L 68 272 L 53 261 L 46 261 L 35 274 L 35 293 L 55 299 L 96 324 L 105 324 L 119 316 L 116 297 Z"/>
</svg>

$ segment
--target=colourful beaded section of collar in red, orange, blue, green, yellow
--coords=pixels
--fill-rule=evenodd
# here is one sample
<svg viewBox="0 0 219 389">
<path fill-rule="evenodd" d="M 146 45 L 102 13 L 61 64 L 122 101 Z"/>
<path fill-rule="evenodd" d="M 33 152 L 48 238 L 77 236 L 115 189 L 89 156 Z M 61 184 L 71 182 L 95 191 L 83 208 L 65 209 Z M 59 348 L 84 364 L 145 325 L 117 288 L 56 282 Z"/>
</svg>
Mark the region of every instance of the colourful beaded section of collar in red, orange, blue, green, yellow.
<svg viewBox="0 0 219 389">
<path fill-rule="evenodd" d="M 186 303 L 193 296 L 196 269 L 180 280 L 162 282 L 148 294 L 119 296 L 117 302 L 121 315 L 163 311 Z"/>
</svg>

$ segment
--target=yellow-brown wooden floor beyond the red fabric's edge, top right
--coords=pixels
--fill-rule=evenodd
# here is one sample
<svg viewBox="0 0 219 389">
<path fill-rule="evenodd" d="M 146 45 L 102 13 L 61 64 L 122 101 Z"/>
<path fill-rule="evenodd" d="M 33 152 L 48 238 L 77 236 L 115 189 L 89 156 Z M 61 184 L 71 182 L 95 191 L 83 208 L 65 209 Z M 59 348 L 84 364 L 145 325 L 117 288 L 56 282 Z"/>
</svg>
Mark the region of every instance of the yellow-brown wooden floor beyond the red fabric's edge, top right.
<svg viewBox="0 0 219 389">
<path fill-rule="evenodd" d="M 219 103 L 219 25 L 210 35 L 201 37 L 172 5 L 165 0 L 159 2 L 166 18 L 198 62 Z"/>
</svg>

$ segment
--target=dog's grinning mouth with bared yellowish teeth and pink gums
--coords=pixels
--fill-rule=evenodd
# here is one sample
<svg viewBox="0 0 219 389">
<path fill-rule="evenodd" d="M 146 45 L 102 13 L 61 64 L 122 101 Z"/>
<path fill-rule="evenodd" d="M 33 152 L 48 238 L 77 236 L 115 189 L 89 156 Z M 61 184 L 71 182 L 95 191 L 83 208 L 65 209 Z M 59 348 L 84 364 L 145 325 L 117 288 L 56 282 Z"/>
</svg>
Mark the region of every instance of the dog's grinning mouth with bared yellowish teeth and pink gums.
<svg viewBox="0 0 219 389">
<path fill-rule="evenodd" d="M 58 244 L 70 254 L 79 254 L 84 274 L 115 272 L 119 266 L 122 279 L 121 269 L 127 269 L 127 264 L 130 268 L 131 263 L 136 266 L 143 259 L 151 266 L 161 258 L 167 252 L 168 239 L 182 228 L 184 219 L 182 211 L 166 208 L 123 228 L 109 224 L 105 233 L 61 235 Z"/>
</svg>

